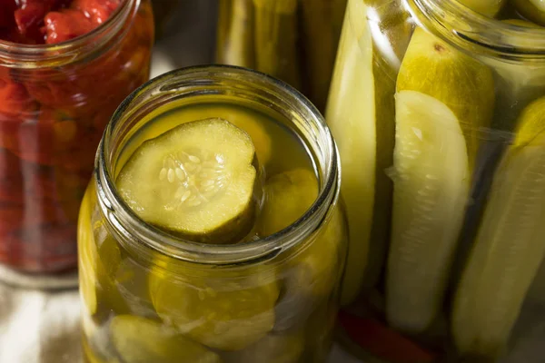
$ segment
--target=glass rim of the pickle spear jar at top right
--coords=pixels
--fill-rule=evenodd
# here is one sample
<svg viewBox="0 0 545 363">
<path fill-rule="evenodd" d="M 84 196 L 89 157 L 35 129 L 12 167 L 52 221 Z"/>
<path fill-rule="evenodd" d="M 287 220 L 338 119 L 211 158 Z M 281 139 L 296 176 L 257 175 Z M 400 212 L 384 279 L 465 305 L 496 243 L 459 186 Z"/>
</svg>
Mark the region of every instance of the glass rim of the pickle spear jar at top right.
<svg viewBox="0 0 545 363">
<path fill-rule="evenodd" d="M 506 60 L 540 60 L 545 29 L 512 25 L 469 10 L 459 1 L 403 0 L 419 25 L 462 49 Z M 545 61 L 544 61 L 545 62 Z"/>
</svg>

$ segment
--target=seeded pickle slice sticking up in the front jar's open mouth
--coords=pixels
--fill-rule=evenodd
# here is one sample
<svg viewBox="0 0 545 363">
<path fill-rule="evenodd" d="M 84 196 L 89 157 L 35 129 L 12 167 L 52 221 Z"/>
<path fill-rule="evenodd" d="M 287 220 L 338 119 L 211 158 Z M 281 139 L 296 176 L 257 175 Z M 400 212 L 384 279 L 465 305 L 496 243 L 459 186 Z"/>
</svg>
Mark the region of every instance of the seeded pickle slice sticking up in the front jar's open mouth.
<svg viewBox="0 0 545 363">
<path fill-rule="evenodd" d="M 184 238 L 227 243 L 253 225 L 255 149 L 223 119 L 183 123 L 144 142 L 117 187 L 144 221 Z"/>
</svg>

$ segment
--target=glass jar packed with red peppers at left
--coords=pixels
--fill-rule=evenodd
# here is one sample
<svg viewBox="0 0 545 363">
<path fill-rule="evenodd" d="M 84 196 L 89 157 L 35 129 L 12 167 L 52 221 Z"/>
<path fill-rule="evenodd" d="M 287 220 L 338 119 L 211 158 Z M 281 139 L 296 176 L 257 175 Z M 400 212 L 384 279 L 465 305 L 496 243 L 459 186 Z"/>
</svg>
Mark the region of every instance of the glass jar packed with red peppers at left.
<svg viewBox="0 0 545 363">
<path fill-rule="evenodd" d="M 61 44 L 0 41 L 0 263 L 77 266 L 76 220 L 94 153 L 119 103 L 149 79 L 149 0 L 127 0 Z"/>
</svg>

